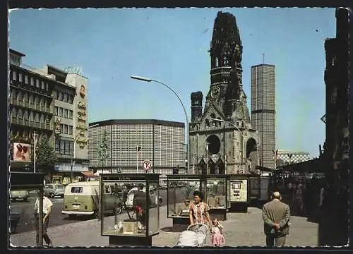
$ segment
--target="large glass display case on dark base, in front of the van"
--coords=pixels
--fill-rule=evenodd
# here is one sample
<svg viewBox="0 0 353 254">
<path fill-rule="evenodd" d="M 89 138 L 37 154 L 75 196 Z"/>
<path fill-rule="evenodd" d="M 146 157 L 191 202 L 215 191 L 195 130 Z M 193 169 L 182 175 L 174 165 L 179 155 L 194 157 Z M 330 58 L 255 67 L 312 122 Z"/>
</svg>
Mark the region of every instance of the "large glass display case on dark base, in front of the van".
<svg viewBox="0 0 353 254">
<path fill-rule="evenodd" d="M 101 174 L 102 236 L 112 236 L 109 243 L 121 246 L 135 246 L 143 238 L 149 240 L 142 245 L 150 245 L 151 237 L 159 234 L 161 199 L 158 174 Z"/>
</svg>

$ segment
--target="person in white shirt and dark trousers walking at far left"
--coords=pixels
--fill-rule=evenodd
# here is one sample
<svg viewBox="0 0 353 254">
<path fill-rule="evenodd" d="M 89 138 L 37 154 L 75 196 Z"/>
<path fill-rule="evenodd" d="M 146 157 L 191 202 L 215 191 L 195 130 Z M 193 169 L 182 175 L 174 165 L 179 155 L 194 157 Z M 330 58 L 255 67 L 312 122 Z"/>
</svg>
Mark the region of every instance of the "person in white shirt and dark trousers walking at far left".
<svg viewBox="0 0 353 254">
<path fill-rule="evenodd" d="M 52 213 L 52 200 L 49 200 L 49 198 L 43 196 L 43 222 L 42 222 L 42 234 L 45 243 L 47 243 L 47 247 L 52 247 L 53 242 L 52 239 L 49 238 L 47 229 L 49 226 L 49 217 L 50 214 Z M 40 214 L 40 200 L 37 198 L 35 200 L 35 242 L 37 243 L 37 246 L 39 245 L 40 242 L 40 235 L 39 235 L 39 214 Z"/>
</svg>

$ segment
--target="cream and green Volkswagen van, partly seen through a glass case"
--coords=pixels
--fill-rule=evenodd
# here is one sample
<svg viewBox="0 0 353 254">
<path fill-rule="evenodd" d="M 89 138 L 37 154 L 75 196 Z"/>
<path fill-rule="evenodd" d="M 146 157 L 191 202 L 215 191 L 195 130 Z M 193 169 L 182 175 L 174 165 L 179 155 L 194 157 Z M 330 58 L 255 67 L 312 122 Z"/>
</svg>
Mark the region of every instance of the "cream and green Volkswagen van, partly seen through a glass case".
<svg viewBox="0 0 353 254">
<path fill-rule="evenodd" d="M 104 186 L 104 211 L 121 214 L 124 202 L 115 191 L 114 185 Z M 76 215 L 98 216 L 100 208 L 100 181 L 82 181 L 70 183 L 64 192 L 64 210 L 68 217 Z"/>
</svg>

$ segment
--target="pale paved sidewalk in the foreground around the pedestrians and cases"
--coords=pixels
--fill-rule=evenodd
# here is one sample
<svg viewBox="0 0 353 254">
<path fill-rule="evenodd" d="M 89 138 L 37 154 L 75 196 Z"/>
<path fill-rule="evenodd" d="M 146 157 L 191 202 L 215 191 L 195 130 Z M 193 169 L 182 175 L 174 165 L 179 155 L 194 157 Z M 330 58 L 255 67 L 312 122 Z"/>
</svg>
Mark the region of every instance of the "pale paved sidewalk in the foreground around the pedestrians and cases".
<svg viewBox="0 0 353 254">
<path fill-rule="evenodd" d="M 167 207 L 160 207 L 160 234 L 152 237 L 152 246 L 173 247 L 180 233 L 162 231 L 172 226 L 172 219 L 167 219 Z M 290 234 L 286 246 L 317 246 L 318 224 L 307 222 L 305 217 L 292 217 Z M 225 226 L 225 246 L 265 246 L 263 219 L 261 210 L 249 207 L 248 213 L 228 213 Z M 48 229 L 54 247 L 90 247 L 109 246 L 109 237 L 100 235 L 100 221 L 92 219 Z M 13 234 L 11 243 L 15 246 L 34 246 L 35 232 Z M 210 246 L 210 236 L 207 237 Z"/>
</svg>

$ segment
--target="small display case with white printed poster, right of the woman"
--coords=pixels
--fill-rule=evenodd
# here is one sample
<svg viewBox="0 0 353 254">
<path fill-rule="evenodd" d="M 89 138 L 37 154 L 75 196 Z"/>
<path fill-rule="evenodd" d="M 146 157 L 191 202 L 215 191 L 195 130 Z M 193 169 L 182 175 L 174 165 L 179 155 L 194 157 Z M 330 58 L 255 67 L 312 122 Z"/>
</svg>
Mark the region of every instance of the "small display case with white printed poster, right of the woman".
<svg viewBox="0 0 353 254">
<path fill-rule="evenodd" d="M 245 174 L 229 175 L 230 212 L 247 212 L 249 205 L 249 176 Z"/>
</svg>

